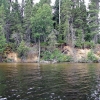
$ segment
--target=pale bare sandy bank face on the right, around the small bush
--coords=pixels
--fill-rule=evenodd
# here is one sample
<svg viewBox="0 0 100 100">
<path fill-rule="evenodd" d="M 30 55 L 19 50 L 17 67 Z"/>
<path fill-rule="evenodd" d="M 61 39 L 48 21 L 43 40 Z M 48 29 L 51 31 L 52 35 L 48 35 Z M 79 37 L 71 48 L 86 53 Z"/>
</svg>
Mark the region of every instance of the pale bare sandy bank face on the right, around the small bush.
<svg viewBox="0 0 100 100">
<path fill-rule="evenodd" d="M 87 59 L 88 53 L 91 51 L 91 49 L 79 49 L 79 48 L 72 48 L 70 46 L 64 46 L 62 53 L 71 56 L 75 62 L 82 62 Z M 94 50 L 95 57 L 99 60 L 100 59 L 100 48 L 95 48 Z"/>
</svg>

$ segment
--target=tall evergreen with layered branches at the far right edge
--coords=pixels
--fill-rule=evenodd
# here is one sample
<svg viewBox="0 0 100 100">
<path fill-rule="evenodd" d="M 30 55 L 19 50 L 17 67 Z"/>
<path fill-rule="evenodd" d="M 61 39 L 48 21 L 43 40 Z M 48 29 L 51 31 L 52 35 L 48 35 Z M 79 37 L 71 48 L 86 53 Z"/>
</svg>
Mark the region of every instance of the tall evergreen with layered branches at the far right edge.
<svg viewBox="0 0 100 100">
<path fill-rule="evenodd" d="M 88 25 L 90 30 L 90 37 L 95 43 L 97 43 L 97 35 L 99 34 L 99 8 L 97 3 L 98 0 L 91 0 L 88 12 Z"/>
</svg>

